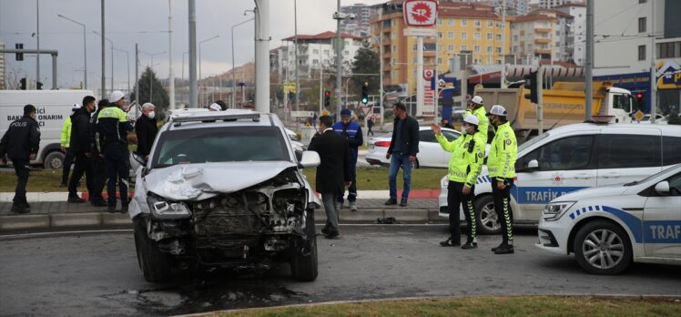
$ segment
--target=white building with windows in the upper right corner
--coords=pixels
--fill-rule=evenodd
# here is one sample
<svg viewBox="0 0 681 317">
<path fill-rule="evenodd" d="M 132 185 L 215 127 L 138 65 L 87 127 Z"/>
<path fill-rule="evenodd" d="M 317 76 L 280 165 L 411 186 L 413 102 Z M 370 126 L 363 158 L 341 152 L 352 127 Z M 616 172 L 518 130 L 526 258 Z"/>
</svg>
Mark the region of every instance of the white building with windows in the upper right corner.
<svg viewBox="0 0 681 317">
<path fill-rule="evenodd" d="M 613 10 L 614 7 L 626 8 Z M 681 105 L 681 1 L 595 1 L 595 79 L 633 92 L 640 109 L 651 112 L 652 86 L 656 112 L 679 112 Z M 655 22 L 655 25 L 653 25 Z M 655 45 L 655 55 L 651 46 Z M 655 67 L 651 82 L 651 66 Z M 652 85 L 651 85 L 652 84 Z"/>
</svg>

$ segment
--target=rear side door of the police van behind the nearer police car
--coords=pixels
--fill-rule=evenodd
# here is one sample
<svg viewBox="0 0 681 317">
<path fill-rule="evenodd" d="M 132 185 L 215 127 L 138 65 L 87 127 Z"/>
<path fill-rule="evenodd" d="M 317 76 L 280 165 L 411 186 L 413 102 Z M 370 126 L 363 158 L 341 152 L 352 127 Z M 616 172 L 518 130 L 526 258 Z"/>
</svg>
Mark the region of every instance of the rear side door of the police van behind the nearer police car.
<svg viewBox="0 0 681 317">
<path fill-rule="evenodd" d="M 662 170 L 659 128 L 605 128 L 599 140 L 598 187 L 645 179 Z"/>
</svg>

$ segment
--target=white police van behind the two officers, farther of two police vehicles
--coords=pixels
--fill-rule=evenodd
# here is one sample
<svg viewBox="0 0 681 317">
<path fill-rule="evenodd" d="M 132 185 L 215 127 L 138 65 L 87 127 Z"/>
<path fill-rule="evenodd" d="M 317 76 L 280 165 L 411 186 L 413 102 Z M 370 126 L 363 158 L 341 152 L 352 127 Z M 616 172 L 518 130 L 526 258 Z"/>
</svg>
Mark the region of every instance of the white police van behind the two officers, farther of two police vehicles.
<svg viewBox="0 0 681 317">
<path fill-rule="evenodd" d="M 645 179 L 681 163 L 679 148 L 681 126 L 673 125 L 580 123 L 545 132 L 518 148 L 511 189 L 513 222 L 538 223 L 544 205 L 569 192 Z M 449 217 L 447 183 L 442 178 L 441 217 Z M 486 167 L 475 195 L 479 232 L 498 233 L 501 225 Z"/>
</svg>

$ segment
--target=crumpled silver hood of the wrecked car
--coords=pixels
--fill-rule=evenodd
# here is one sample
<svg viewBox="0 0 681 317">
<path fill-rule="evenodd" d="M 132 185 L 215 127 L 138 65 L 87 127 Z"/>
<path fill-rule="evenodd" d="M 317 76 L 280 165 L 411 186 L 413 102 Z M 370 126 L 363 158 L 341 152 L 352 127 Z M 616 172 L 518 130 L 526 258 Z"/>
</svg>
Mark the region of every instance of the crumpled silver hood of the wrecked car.
<svg viewBox="0 0 681 317">
<path fill-rule="evenodd" d="M 181 164 L 150 170 L 145 185 L 165 199 L 201 200 L 247 189 L 294 167 L 286 161 Z"/>
</svg>

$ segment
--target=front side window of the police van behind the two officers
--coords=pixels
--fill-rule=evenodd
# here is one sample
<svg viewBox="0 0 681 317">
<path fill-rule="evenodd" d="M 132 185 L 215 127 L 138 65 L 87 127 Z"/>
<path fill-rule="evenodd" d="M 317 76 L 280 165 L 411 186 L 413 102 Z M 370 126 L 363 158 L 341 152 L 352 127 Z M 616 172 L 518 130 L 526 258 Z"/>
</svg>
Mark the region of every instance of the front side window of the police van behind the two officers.
<svg viewBox="0 0 681 317">
<path fill-rule="evenodd" d="M 540 171 L 593 169 L 594 136 L 561 138 L 525 155 L 522 166 L 536 159 Z"/>
</svg>

